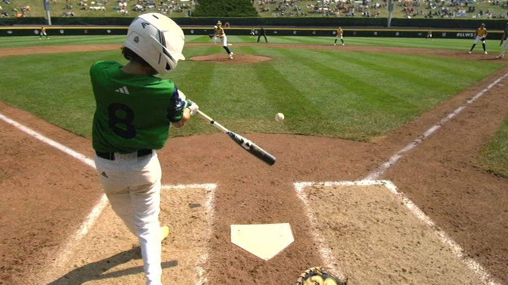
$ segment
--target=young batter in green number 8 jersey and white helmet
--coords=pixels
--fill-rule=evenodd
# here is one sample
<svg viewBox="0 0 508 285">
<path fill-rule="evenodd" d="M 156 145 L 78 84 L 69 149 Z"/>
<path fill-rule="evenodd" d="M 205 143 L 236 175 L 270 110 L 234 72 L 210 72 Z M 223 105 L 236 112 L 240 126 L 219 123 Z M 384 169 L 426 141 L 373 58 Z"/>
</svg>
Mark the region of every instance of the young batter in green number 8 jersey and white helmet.
<svg viewBox="0 0 508 285">
<path fill-rule="evenodd" d="M 169 126 L 181 127 L 198 110 L 175 84 L 155 77 L 184 60 L 182 29 L 170 18 L 142 14 L 131 23 L 122 54 L 129 63 L 98 61 L 90 67 L 96 100 L 92 146 L 112 209 L 141 243 L 146 284 L 161 283 L 161 165 L 157 150 Z M 177 173 L 175 174 L 177 175 Z"/>
</svg>

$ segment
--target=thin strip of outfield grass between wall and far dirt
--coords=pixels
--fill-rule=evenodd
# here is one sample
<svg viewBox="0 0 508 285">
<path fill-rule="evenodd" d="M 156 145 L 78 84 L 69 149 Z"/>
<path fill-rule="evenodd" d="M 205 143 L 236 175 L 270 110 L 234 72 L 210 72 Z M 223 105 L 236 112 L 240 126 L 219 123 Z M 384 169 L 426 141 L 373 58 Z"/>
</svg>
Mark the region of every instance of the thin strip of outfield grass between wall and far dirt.
<svg viewBox="0 0 508 285">
<path fill-rule="evenodd" d="M 248 33 L 248 30 L 245 31 Z M 492 54 L 500 52 L 498 35 L 492 35 L 487 39 L 487 49 Z M 229 35 L 228 43 L 255 43 L 257 37 Z M 331 45 L 335 37 L 280 37 L 268 36 L 268 41 L 274 44 L 317 44 Z M 39 36 L 33 37 L 0 37 L 0 48 L 29 47 L 29 46 L 59 46 L 59 45 L 87 45 L 87 44 L 121 44 L 125 40 L 124 35 L 58 35 L 49 40 L 39 40 Z M 213 43 L 207 35 L 186 35 L 187 43 Z M 262 39 L 262 41 L 264 41 Z M 350 46 L 384 46 L 406 48 L 428 48 L 467 51 L 471 47 L 472 39 L 434 39 L 425 40 L 411 38 L 359 38 L 345 37 L 346 45 Z M 260 47 L 263 43 L 259 43 Z M 339 50 L 340 47 L 337 47 Z M 481 45 L 477 47 L 481 50 Z"/>
</svg>

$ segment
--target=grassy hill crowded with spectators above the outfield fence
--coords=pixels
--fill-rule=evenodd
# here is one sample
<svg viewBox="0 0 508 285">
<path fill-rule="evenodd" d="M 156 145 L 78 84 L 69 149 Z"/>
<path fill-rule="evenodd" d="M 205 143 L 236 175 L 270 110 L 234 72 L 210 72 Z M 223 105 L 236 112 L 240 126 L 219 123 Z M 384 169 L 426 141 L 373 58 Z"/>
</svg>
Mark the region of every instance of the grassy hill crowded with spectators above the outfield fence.
<svg viewBox="0 0 508 285">
<path fill-rule="evenodd" d="M 224 16 L 235 8 L 241 16 L 261 17 L 388 17 L 383 0 L 202 0 L 203 8 L 196 0 L 50 0 L 51 16 L 76 17 L 135 17 L 146 12 L 159 12 L 169 17 Z M 248 5 L 245 5 L 249 3 Z M 0 13 L 7 17 L 44 17 L 41 0 L 2 0 Z M 253 7 L 253 8 L 252 8 Z M 256 13 L 257 12 L 257 13 Z M 397 1 L 394 18 L 508 18 L 508 2 L 493 1 Z"/>
</svg>

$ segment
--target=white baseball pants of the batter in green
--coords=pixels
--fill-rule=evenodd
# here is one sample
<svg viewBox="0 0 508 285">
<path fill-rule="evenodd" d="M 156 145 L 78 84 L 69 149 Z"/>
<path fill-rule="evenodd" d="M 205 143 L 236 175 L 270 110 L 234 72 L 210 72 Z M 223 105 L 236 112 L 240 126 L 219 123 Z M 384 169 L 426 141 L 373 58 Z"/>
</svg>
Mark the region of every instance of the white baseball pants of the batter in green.
<svg viewBox="0 0 508 285">
<path fill-rule="evenodd" d="M 96 168 L 112 209 L 139 238 L 147 285 L 161 285 L 161 164 L 157 153 L 138 157 L 118 154 L 115 160 L 96 156 Z"/>
</svg>

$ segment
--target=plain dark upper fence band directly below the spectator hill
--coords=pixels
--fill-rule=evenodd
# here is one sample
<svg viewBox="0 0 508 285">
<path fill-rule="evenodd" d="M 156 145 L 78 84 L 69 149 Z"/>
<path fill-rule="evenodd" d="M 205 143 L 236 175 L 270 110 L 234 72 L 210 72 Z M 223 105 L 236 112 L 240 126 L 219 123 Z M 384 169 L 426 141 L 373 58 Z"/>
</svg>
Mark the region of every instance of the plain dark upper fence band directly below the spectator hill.
<svg viewBox="0 0 508 285">
<path fill-rule="evenodd" d="M 89 25 L 89 26 L 128 26 L 133 17 L 51 17 L 53 25 Z M 353 17 L 184 17 L 173 18 L 181 26 L 210 26 L 217 22 L 229 22 L 232 26 L 295 26 L 295 27 L 386 27 L 386 18 L 353 18 Z M 43 25 L 44 17 L 0 18 L 0 26 Z M 474 29 L 485 23 L 488 29 L 504 29 L 506 20 L 470 19 L 470 18 L 432 18 L 406 19 L 393 18 L 392 27 L 450 28 Z"/>
</svg>

